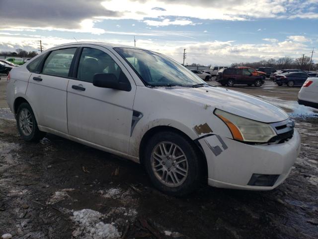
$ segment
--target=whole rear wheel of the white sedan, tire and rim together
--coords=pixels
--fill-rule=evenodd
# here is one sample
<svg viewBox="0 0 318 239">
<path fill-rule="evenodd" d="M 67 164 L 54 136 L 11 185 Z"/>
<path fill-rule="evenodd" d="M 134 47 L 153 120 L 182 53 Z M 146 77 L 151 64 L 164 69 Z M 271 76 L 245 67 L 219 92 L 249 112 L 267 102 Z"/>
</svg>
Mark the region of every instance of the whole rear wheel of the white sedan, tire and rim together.
<svg viewBox="0 0 318 239">
<path fill-rule="evenodd" d="M 25 141 L 39 141 L 45 136 L 38 128 L 31 106 L 28 103 L 22 103 L 16 112 L 16 126 L 21 137 Z"/>
</svg>

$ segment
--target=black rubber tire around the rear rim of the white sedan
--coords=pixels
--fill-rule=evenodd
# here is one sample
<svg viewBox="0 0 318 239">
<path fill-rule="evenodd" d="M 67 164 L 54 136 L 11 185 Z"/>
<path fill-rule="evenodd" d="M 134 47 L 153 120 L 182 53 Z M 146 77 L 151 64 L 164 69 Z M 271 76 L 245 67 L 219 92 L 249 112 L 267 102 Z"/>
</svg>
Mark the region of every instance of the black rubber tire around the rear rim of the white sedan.
<svg viewBox="0 0 318 239">
<path fill-rule="evenodd" d="M 32 129 L 31 129 L 30 134 L 26 134 L 25 132 L 23 132 L 23 129 L 21 128 L 21 124 L 20 124 L 20 120 L 21 120 L 20 115 L 22 114 L 22 111 L 24 109 L 26 109 L 30 113 L 30 119 L 32 120 Z M 31 106 L 28 103 L 22 103 L 18 107 L 18 110 L 16 112 L 16 126 L 18 128 L 18 131 L 19 131 L 21 137 L 25 141 L 37 142 L 40 139 L 42 139 L 45 136 L 45 134 L 46 134 L 45 132 L 42 132 L 42 131 L 39 130 L 38 124 L 37 124 L 36 119 L 34 117 L 34 113 L 32 111 L 32 108 L 31 108 Z"/>
</svg>

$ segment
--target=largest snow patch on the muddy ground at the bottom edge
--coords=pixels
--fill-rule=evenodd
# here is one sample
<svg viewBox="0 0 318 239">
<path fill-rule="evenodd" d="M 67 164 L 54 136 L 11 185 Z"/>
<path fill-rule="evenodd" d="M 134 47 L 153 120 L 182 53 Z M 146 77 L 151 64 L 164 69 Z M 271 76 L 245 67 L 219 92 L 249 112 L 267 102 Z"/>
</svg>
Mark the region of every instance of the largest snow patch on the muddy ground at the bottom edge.
<svg viewBox="0 0 318 239">
<path fill-rule="evenodd" d="M 91 210 L 83 209 L 75 211 L 71 219 L 76 223 L 77 229 L 73 231 L 73 237 L 91 239 L 118 239 L 120 233 L 113 224 L 105 224 L 100 219 L 105 215 Z"/>
</svg>

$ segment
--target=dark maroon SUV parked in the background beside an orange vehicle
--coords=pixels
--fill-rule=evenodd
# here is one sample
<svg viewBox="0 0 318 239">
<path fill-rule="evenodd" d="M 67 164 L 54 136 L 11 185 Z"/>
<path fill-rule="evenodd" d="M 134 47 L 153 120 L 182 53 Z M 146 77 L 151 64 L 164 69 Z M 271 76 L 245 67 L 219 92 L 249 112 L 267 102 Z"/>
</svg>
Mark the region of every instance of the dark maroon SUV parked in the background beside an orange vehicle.
<svg viewBox="0 0 318 239">
<path fill-rule="evenodd" d="M 262 76 L 252 74 L 247 69 L 241 68 L 227 68 L 222 69 L 218 72 L 217 82 L 221 83 L 222 86 L 234 86 L 235 84 L 246 84 L 248 86 L 260 87 L 264 84 Z"/>
</svg>

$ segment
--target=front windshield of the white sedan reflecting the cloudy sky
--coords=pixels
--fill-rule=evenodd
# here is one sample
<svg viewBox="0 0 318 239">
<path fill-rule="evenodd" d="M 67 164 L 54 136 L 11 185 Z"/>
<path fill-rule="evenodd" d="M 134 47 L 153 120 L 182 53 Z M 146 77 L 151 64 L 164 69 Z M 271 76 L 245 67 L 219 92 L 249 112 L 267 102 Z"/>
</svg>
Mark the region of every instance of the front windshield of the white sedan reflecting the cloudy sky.
<svg viewBox="0 0 318 239">
<path fill-rule="evenodd" d="M 152 51 L 114 48 L 142 81 L 149 86 L 185 86 L 206 84 L 198 76 L 170 58 Z"/>
</svg>

